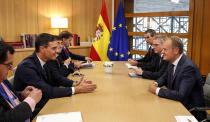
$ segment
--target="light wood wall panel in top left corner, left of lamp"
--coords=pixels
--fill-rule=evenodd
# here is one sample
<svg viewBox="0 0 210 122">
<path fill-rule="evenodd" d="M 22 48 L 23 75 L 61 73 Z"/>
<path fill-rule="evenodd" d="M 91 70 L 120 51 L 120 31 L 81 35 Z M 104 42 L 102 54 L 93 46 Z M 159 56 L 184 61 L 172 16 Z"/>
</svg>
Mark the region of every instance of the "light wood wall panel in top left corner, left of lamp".
<svg viewBox="0 0 210 122">
<path fill-rule="evenodd" d="M 19 40 L 21 33 L 37 31 L 36 0 L 0 0 L 0 35 L 5 40 Z"/>
</svg>

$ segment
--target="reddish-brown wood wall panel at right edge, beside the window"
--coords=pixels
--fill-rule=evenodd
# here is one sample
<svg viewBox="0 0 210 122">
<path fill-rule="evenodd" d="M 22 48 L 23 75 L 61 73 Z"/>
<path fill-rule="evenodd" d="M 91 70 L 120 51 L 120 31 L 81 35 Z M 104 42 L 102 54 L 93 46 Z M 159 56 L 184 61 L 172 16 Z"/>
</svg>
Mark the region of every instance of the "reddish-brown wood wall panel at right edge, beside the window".
<svg viewBox="0 0 210 122">
<path fill-rule="evenodd" d="M 195 0 L 192 59 L 201 74 L 210 73 L 210 5 L 209 0 Z"/>
</svg>

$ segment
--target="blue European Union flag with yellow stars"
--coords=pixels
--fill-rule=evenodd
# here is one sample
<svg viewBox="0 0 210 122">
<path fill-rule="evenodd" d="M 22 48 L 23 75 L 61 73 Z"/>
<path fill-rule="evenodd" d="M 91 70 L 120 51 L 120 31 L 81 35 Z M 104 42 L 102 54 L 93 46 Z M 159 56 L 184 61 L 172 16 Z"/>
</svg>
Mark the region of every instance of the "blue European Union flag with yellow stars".
<svg viewBox="0 0 210 122">
<path fill-rule="evenodd" d="M 127 61 L 130 57 L 128 31 L 122 0 L 118 7 L 107 55 L 111 61 Z"/>
</svg>

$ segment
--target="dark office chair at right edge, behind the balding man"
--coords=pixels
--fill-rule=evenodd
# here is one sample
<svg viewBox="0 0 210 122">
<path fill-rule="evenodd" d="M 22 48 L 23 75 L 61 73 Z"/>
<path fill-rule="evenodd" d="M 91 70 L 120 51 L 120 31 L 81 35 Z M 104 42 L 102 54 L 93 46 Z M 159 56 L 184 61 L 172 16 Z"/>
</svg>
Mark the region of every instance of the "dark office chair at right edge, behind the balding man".
<svg viewBox="0 0 210 122">
<path fill-rule="evenodd" d="M 205 100 L 205 107 L 195 107 L 190 109 L 189 111 L 206 111 L 210 110 L 210 73 L 208 74 L 208 77 L 206 78 L 206 82 L 203 86 L 203 92 L 204 92 L 204 100 Z M 207 114 L 207 120 L 210 121 L 210 114 Z"/>
</svg>

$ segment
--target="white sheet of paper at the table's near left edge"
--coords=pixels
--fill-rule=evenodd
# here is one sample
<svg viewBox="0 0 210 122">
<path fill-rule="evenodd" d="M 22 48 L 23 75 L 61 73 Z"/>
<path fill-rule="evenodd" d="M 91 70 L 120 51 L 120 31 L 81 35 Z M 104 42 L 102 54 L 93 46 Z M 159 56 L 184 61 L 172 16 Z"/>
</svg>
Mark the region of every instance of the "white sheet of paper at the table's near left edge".
<svg viewBox="0 0 210 122">
<path fill-rule="evenodd" d="M 36 122 L 82 122 L 81 112 L 41 115 Z"/>
</svg>

